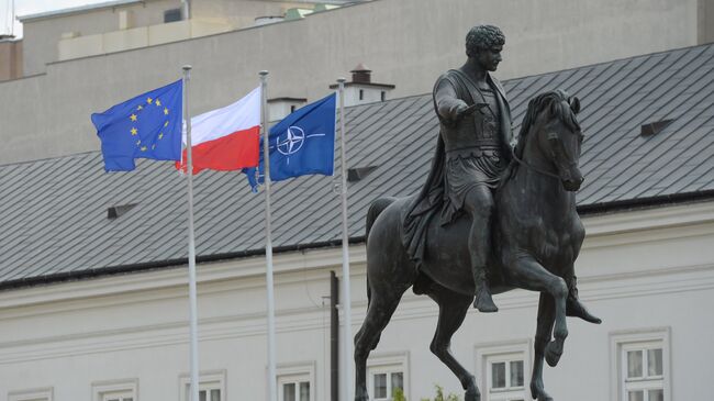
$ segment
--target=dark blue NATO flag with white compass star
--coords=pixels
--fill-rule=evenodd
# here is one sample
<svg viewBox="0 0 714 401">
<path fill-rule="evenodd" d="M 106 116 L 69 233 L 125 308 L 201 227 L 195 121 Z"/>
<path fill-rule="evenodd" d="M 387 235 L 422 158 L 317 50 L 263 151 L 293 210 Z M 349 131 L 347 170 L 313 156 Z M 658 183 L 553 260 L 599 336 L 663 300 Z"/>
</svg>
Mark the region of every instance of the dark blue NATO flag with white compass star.
<svg viewBox="0 0 714 401">
<path fill-rule="evenodd" d="M 281 181 L 310 174 L 332 176 L 335 160 L 335 99 L 330 94 L 291 113 L 270 129 L 270 180 Z M 263 149 L 263 140 L 260 140 Z M 255 168 L 243 171 L 256 190 L 264 182 L 264 161 L 260 153 L 258 181 Z"/>
</svg>

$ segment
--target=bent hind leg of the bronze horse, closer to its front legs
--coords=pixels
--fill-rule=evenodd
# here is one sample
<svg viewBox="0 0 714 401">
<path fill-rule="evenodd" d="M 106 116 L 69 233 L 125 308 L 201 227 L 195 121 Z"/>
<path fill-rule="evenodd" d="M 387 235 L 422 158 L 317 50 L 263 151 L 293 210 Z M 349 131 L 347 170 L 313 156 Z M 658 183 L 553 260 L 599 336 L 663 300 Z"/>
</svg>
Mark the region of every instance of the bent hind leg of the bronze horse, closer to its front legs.
<svg viewBox="0 0 714 401">
<path fill-rule="evenodd" d="M 429 348 L 458 377 L 466 390 L 465 401 L 480 401 L 476 378 L 454 358 L 450 349 L 451 336 L 464 323 L 473 297 L 453 292 L 438 285 L 432 285 L 428 296 L 438 303 L 438 324 Z"/>
</svg>

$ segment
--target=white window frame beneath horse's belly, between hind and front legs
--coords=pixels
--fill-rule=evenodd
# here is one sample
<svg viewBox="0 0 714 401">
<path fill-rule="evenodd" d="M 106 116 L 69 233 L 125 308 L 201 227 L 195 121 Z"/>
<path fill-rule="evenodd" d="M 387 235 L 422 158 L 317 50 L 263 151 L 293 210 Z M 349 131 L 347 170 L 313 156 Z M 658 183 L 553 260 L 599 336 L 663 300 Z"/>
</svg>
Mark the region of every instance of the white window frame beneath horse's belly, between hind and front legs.
<svg viewBox="0 0 714 401">
<path fill-rule="evenodd" d="M 533 341 L 531 338 L 512 339 L 497 343 L 481 343 L 475 346 L 476 380 L 481 389 L 483 401 L 502 401 L 511 399 L 529 400 L 528 381 L 533 369 Z M 523 386 L 507 387 L 511 378 L 507 376 L 510 363 L 523 361 Z M 506 387 L 492 388 L 492 368 L 494 363 L 506 363 Z"/>
</svg>

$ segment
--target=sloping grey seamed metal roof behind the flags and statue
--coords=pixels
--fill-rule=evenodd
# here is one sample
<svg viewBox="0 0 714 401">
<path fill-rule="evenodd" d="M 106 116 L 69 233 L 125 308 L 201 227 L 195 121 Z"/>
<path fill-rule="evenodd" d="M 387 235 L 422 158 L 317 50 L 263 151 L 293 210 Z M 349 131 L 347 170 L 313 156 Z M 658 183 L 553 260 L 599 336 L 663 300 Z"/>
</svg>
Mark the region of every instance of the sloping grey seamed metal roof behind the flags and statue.
<svg viewBox="0 0 714 401">
<path fill-rule="evenodd" d="M 518 129 L 527 101 L 562 88 L 580 97 L 587 135 L 583 211 L 685 199 L 714 191 L 714 45 L 696 46 L 504 82 Z M 640 125 L 673 120 L 644 137 Z M 437 122 L 431 94 L 347 109 L 350 167 L 378 166 L 349 183 L 349 233 L 380 196 L 425 180 Z M 517 132 L 517 131 L 516 131 Z M 337 164 L 336 166 L 339 166 Z M 274 185 L 277 250 L 336 245 L 337 177 Z M 264 197 L 236 172 L 194 178 L 200 260 L 261 254 Z M 112 205 L 136 203 L 109 220 Z M 168 163 L 104 174 L 99 153 L 0 166 L 0 288 L 181 264 L 187 257 L 186 180 Z"/>
</svg>

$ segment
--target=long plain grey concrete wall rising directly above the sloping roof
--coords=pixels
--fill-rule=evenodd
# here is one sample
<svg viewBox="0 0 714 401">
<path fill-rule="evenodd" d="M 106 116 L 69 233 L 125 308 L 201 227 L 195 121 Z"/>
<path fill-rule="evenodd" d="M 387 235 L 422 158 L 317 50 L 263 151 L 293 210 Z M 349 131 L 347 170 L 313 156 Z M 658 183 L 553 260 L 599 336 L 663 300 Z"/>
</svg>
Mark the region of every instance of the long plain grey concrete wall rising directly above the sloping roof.
<svg viewBox="0 0 714 401">
<path fill-rule="evenodd" d="M 47 65 L 46 74 L 0 83 L 0 164 L 96 151 L 90 123 L 193 65 L 191 112 L 225 105 L 270 70 L 269 97 L 317 99 L 365 63 L 391 98 L 424 93 L 464 59 L 478 23 L 506 34 L 501 79 L 698 43 L 698 0 L 380 0 L 303 20 L 137 51 Z M 486 18 L 484 15 L 488 15 Z M 30 46 L 30 43 L 25 43 Z"/>
</svg>

